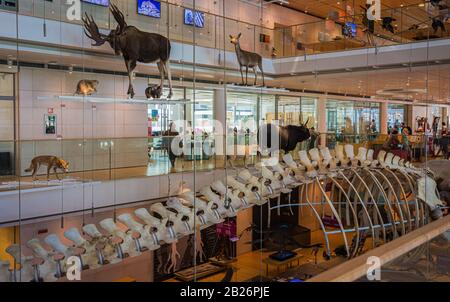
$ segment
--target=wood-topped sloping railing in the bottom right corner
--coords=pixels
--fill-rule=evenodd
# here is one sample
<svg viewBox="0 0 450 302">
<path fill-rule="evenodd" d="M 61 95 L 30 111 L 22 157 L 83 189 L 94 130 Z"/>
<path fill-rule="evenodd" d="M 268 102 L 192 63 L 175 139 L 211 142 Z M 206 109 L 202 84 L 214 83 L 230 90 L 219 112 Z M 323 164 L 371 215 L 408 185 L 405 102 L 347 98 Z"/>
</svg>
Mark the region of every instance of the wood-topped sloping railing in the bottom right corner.
<svg viewBox="0 0 450 302">
<path fill-rule="evenodd" d="M 341 264 L 316 265 L 311 282 L 449 282 L 450 217 L 446 216 Z M 407 240 L 409 239 L 409 240 Z"/>
</svg>

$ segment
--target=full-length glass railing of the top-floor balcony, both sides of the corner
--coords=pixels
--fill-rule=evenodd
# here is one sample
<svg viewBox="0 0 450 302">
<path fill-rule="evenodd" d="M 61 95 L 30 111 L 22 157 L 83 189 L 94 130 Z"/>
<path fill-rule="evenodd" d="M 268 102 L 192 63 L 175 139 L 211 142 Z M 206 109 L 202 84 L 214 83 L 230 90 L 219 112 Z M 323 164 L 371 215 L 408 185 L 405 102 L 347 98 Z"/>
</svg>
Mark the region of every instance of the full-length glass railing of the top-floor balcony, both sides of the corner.
<svg viewBox="0 0 450 302">
<path fill-rule="evenodd" d="M 129 24 L 142 30 L 163 34 L 172 41 L 234 51 L 229 35 L 242 33 L 241 47 L 267 58 L 382 47 L 445 38 L 447 35 L 439 26 L 434 29 L 432 14 L 427 12 L 426 6 L 419 4 L 383 10 L 381 16 L 391 17 L 392 21 L 376 21 L 370 34 L 363 25 L 365 22 L 362 14 L 272 29 L 203 12 L 203 27 L 193 27 L 185 24 L 185 7 L 178 4 L 161 2 L 160 18 L 139 15 L 134 1 L 121 1 L 117 5 L 125 13 Z M 68 19 L 68 7 L 62 0 L 21 1 L 18 12 L 21 15 L 47 20 L 81 24 L 81 21 Z M 202 11 L 201 8 L 197 9 Z M 82 14 L 84 13 L 92 15 L 101 29 L 116 27 L 115 20 L 106 7 L 82 3 Z M 424 16 L 426 21 L 423 21 Z M 444 23 L 442 26 L 445 27 Z"/>
</svg>

